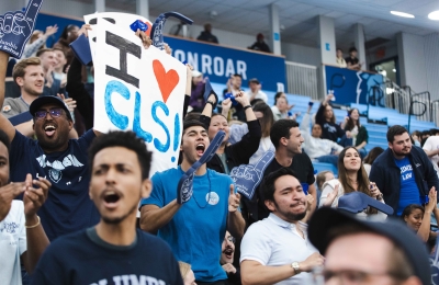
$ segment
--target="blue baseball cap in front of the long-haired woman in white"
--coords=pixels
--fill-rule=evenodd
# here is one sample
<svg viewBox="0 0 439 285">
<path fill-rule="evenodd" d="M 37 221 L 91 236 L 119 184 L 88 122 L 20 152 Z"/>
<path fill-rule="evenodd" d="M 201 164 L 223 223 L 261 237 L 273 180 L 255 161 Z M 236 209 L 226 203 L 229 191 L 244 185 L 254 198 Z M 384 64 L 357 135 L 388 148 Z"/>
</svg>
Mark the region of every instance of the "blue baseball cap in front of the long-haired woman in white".
<svg viewBox="0 0 439 285">
<path fill-rule="evenodd" d="M 376 201 L 371 196 L 358 191 L 345 194 L 339 197 L 337 208 L 351 214 L 358 214 L 367 209 L 368 206 L 381 210 L 384 214 L 393 215 L 393 208 L 391 206 L 381 203 L 380 201 Z"/>
</svg>

